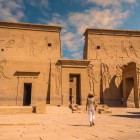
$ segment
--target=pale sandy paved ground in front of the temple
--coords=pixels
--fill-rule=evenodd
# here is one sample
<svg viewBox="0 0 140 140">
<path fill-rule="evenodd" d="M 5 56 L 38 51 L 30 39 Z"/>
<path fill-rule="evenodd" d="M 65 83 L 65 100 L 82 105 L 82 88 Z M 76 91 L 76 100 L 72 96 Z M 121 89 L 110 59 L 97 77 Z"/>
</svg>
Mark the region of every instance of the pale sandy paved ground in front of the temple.
<svg viewBox="0 0 140 140">
<path fill-rule="evenodd" d="M 89 127 L 86 113 L 47 107 L 46 114 L 0 115 L 0 140 L 140 140 L 140 109 L 110 108 L 96 114 Z"/>
</svg>

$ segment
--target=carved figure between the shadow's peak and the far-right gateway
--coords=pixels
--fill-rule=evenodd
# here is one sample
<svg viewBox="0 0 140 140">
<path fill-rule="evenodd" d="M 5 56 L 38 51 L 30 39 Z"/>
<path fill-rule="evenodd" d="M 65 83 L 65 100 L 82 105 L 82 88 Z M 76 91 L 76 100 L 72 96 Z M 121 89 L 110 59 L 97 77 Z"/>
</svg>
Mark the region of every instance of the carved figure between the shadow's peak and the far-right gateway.
<svg viewBox="0 0 140 140">
<path fill-rule="evenodd" d="M 121 84 L 122 81 L 122 71 L 119 65 L 116 66 L 116 78 L 115 78 L 115 85 L 117 88 Z"/>
</svg>

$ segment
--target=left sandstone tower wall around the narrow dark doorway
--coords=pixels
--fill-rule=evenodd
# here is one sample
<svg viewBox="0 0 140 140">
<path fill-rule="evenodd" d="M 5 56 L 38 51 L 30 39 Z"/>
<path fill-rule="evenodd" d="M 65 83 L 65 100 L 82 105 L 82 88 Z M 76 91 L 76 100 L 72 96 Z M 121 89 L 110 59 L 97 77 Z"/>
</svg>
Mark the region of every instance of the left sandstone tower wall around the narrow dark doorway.
<svg viewBox="0 0 140 140">
<path fill-rule="evenodd" d="M 31 105 L 50 102 L 51 63 L 60 58 L 59 27 L 0 23 L 0 105 L 23 105 L 24 83 Z"/>
</svg>

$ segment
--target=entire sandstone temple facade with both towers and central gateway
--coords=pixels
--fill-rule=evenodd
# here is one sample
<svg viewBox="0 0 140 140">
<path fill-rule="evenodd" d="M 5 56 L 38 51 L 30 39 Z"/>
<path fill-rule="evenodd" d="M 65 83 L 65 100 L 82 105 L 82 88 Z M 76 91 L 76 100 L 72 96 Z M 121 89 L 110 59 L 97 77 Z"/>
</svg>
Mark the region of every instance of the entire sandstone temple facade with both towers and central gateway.
<svg viewBox="0 0 140 140">
<path fill-rule="evenodd" d="M 87 29 L 83 60 L 61 58 L 61 27 L 0 22 L 0 105 L 140 105 L 140 31 Z"/>
</svg>

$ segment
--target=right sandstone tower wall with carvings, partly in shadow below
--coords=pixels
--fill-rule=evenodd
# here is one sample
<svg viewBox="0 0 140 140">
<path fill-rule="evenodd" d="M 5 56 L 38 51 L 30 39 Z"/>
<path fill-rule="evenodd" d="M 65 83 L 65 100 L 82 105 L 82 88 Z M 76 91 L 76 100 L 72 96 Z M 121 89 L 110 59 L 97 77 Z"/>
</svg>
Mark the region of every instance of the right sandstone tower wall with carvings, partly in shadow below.
<svg viewBox="0 0 140 140">
<path fill-rule="evenodd" d="M 101 103 L 121 104 L 122 66 L 140 60 L 140 33 L 135 31 L 88 30 L 85 33 L 84 58 L 91 60 L 100 75 L 98 90 Z M 95 93 L 97 94 L 95 89 Z"/>
</svg>

